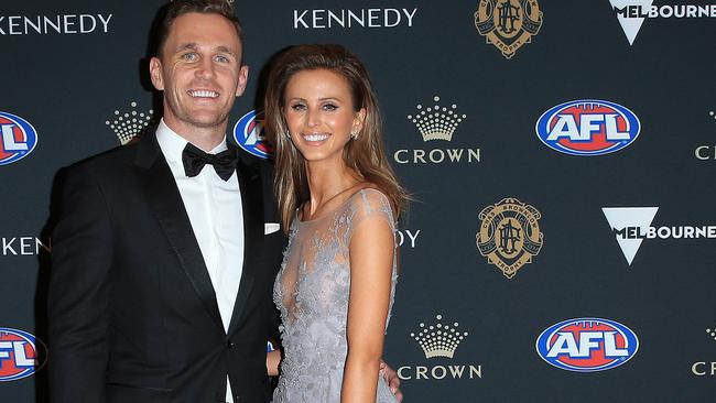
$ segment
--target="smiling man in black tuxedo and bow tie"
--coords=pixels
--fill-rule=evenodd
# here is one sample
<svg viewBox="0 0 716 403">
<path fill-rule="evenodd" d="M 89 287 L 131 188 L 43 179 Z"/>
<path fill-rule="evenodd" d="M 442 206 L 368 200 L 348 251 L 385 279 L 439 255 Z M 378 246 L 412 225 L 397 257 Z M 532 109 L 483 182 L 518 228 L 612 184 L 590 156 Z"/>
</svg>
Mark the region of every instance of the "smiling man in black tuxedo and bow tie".
<svg viewBox="0 0 716 403">
<path fill-rule="evenodd" d="M 53 235 L 53 403 L 268 402 L 284 237 L 270 167 L 226 144 L 247 84 L 226 1 L 177 0 L 155 135 L 73 166 Z"/>
</svg>

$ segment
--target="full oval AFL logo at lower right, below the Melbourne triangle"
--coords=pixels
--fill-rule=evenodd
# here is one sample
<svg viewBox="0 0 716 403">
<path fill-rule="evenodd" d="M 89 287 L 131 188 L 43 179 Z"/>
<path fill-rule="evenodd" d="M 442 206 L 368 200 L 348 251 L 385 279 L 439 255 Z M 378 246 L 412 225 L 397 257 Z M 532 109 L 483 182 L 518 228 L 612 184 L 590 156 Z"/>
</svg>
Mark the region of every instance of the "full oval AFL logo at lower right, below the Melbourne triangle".
<svg viewBox="0 0 716 403">
<path fill-rule="evenodd" d="M 629 361 L 639 349 L 637 335 L 609 319 L 577 318 L 542 331 L 536 350 L 547 363 L 567 371 L 595 372 Z"/>
</svg>

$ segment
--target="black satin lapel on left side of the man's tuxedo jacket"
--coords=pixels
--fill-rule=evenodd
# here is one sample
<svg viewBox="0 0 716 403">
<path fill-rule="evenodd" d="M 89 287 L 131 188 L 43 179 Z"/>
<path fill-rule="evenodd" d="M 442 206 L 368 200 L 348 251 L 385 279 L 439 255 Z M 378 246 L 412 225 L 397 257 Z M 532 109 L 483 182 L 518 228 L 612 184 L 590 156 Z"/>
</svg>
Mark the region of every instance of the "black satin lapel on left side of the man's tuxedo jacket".
<svg viewBox="0 0 716 403">
<path fill-rule="evenodd" d="M 138 144 L 135 164 L 145 170 L 139 176 L 150 209 L 164 230 L 182 270 L 216 324 L 224 329 L 216 293 L 204 263 L 202 250 L 182 203 L 176 183 L 156 138 L 151 135 Z"/>
</svg>

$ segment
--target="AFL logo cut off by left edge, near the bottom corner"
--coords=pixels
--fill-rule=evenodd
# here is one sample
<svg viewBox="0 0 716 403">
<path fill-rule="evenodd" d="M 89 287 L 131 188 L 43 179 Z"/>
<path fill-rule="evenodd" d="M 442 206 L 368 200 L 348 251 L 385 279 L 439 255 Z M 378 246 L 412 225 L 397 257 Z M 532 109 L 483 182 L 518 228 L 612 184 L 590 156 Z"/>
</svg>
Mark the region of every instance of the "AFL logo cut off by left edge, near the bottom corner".
<svg viewBox="0 0 716 403">
<path fill-rule="evenodd" d="M 0 382 L 32 375 L 44 364 L 46 351 L 33 335 L 0 327 Z"/>
</svg>

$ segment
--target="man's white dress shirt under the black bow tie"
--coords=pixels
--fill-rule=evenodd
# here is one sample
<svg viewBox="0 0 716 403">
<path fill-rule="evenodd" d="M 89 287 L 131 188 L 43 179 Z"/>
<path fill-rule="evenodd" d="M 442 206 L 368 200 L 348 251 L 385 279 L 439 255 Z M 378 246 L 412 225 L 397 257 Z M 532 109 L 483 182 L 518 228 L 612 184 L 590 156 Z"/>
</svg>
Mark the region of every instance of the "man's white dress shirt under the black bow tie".
<svg viewBox="0 0 716 403">
<path fill-rule="evenodd" d="M 228 181 L 223 181 L 209 164 L 198 175 L 187 177 L 182 152 L 188 141 L 170 129 L 163 119 L 156 129 L 156 140 L 182 195 L 214 285 L 224 330 L 228 331 L 243 264 L 243 210 L 239 181 L 236 172 Z M 209 154 L 225 150 L 227 145 L 223 141 Z M 226 396 L 227 402 L 234 402 L 228 374 Z"/>
</svg>

